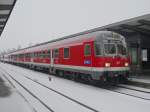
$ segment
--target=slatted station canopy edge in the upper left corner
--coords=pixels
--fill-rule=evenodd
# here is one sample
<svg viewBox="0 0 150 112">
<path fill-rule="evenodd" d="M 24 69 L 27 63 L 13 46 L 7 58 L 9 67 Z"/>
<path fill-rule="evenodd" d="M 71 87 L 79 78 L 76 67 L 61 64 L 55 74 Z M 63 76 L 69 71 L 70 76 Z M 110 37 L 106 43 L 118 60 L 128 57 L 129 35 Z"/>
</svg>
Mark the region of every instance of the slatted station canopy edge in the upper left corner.
<svg viewBox="0 0 150 112">
<path fill-rule="evenodd" d="M 0 0 L 0 36 L 9 19 L 16 0 Z"/>
</svg>

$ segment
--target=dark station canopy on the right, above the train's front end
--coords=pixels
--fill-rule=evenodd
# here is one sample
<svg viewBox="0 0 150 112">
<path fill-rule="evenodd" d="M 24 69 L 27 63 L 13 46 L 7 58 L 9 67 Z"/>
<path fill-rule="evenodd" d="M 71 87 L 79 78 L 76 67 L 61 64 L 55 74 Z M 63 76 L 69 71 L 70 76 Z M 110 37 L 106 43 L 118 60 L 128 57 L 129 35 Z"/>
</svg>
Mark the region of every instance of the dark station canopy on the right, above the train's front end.
<svg viewBox="0 0 150 112">
<path fill-rule="evenodd" d="M 112 23 L 92 30 L 81 32 L 79 34 L 90 33 L 99 30 L 114 31 L 125 35 L 135 34 L 135 33 L 150 35 L 150 14 Z"/>
</svg>

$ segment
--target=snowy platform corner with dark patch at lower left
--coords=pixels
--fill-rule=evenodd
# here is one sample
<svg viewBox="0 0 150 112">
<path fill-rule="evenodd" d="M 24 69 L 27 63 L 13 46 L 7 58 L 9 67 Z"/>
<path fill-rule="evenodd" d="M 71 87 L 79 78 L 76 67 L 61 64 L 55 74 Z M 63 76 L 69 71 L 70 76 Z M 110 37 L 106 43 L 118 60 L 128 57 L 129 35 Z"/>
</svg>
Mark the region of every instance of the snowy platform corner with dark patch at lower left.
<svg viewBox="0 0 150 112">
<path fill-rule="evenodd" d="M 28 102 L 0 73 L 0 112 L 33 112 Z"/>
</svg>

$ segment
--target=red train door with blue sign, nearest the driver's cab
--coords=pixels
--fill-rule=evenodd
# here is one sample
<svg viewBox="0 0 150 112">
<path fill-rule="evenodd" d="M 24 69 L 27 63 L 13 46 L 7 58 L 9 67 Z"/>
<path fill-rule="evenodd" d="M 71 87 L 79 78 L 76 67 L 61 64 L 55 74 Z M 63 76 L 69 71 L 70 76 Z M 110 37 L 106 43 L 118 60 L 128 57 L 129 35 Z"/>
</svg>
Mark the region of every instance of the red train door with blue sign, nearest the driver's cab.
<svg viewBox="0 0 150 112">
<path fill-rule="evenodd" d="M 84 44 L 84 66 L 92 67 L 92 44 L 90 42 Z"/>
</svg>

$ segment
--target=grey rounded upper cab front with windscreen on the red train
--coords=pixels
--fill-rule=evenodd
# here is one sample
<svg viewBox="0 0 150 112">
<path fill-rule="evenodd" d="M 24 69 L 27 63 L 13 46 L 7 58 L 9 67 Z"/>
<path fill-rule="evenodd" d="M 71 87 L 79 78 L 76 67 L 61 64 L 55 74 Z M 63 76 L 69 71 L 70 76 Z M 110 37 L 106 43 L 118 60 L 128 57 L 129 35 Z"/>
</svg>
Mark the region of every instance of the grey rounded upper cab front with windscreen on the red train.
<svg viewBox="0 0 150 112">
<path fill-rule="evenodd" d="M 127 46 L 122 35 L 107 32 L 94 42 L 94 51 L 96 56 L 127 56 Z"/>
</svg>

